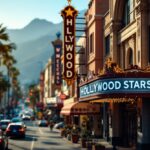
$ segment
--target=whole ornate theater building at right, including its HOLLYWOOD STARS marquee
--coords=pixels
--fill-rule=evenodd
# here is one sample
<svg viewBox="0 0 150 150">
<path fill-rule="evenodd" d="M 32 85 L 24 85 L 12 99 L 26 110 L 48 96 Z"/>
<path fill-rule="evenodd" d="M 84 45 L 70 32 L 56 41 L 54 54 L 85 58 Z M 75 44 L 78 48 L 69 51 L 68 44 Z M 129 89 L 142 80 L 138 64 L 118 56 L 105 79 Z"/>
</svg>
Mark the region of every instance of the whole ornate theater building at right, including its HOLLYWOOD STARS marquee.
<svg viewBox="0 0 150 150">
<path fill-rule="evenodd" d="M 95 3 L 95 0 L 90 1 L 87 18 L 91 15 L 91 7 L 96 10 L 104 8 Z M 87 68 L 93 72 L 93 76 L 80 83 L 79 101 L 102 105 L 100 123 L 103 138 L 114 147 L 139 150 L 150 147 L 149 8 L 149 0 L 110 0 L 107 13 L 103 17 L 101 15 L 104 24 L 101 48 L 96 48 L 99 30 L 95 28 L 92 36 L 88 36 L 90 32 L 87 32 L 87 37 L 92 37 L 95 43 L 92 51 L 89 40 L 86 49 L 89 50 L 86 52 Z M 87 26 L 87 31 L 91 31 L 91 26 Z M 97 53 L 100 59 L 90 63 L 91 58 L 98 56 Z M 99 67 L 92 70 L 98 65 L 97 61 Z M 92 65 L 94 62 L 95 65 Z"/>
</svg>

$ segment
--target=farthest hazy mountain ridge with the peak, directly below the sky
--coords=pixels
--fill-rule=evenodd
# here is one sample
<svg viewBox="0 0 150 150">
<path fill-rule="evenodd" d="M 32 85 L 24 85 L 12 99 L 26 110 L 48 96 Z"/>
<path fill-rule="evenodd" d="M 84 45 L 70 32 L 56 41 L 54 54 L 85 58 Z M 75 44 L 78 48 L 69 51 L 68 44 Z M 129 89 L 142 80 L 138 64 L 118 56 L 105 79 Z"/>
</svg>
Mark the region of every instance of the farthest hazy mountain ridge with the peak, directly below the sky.
<svg viewBox="0 0 150 150">
<path fill-rule="evenodd" d="M 8 30 L 11 40 L 16 43 L 31 41 L 46 34 L 55 34 L 62 30 L 62 23 L 54 24 L 45 19 L 34 19 L 22 29 Z"/>
</svg>

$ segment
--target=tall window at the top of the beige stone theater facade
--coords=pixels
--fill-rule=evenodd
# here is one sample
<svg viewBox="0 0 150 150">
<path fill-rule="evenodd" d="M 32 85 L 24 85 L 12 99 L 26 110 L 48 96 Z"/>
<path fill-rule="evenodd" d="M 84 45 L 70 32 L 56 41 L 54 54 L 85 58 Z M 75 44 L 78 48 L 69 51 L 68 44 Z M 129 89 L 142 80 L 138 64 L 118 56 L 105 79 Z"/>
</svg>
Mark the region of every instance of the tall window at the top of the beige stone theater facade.
<svg viewBox="0 0 150 150">
<path fill-rule="evenodd" d="M 134 19 L 134 0 L 125 0 L 124 6 L 124 26 L 128 25 Z"/>
</svg>

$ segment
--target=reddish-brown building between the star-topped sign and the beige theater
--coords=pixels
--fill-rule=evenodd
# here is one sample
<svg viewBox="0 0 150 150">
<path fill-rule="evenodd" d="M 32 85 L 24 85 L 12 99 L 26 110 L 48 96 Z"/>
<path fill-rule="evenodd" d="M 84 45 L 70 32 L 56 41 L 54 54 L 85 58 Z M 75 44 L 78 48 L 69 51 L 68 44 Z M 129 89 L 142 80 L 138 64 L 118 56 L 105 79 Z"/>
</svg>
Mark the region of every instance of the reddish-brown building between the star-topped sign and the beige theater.
<svg viewBox="0 0 150 150">
<path fill-rule="evenodd" d="M 97 74 L 103 67 L 103 16 L 108 11 L 108 0 L 91 0 L 86 16 L 87 70 Z"/>
</svg>

